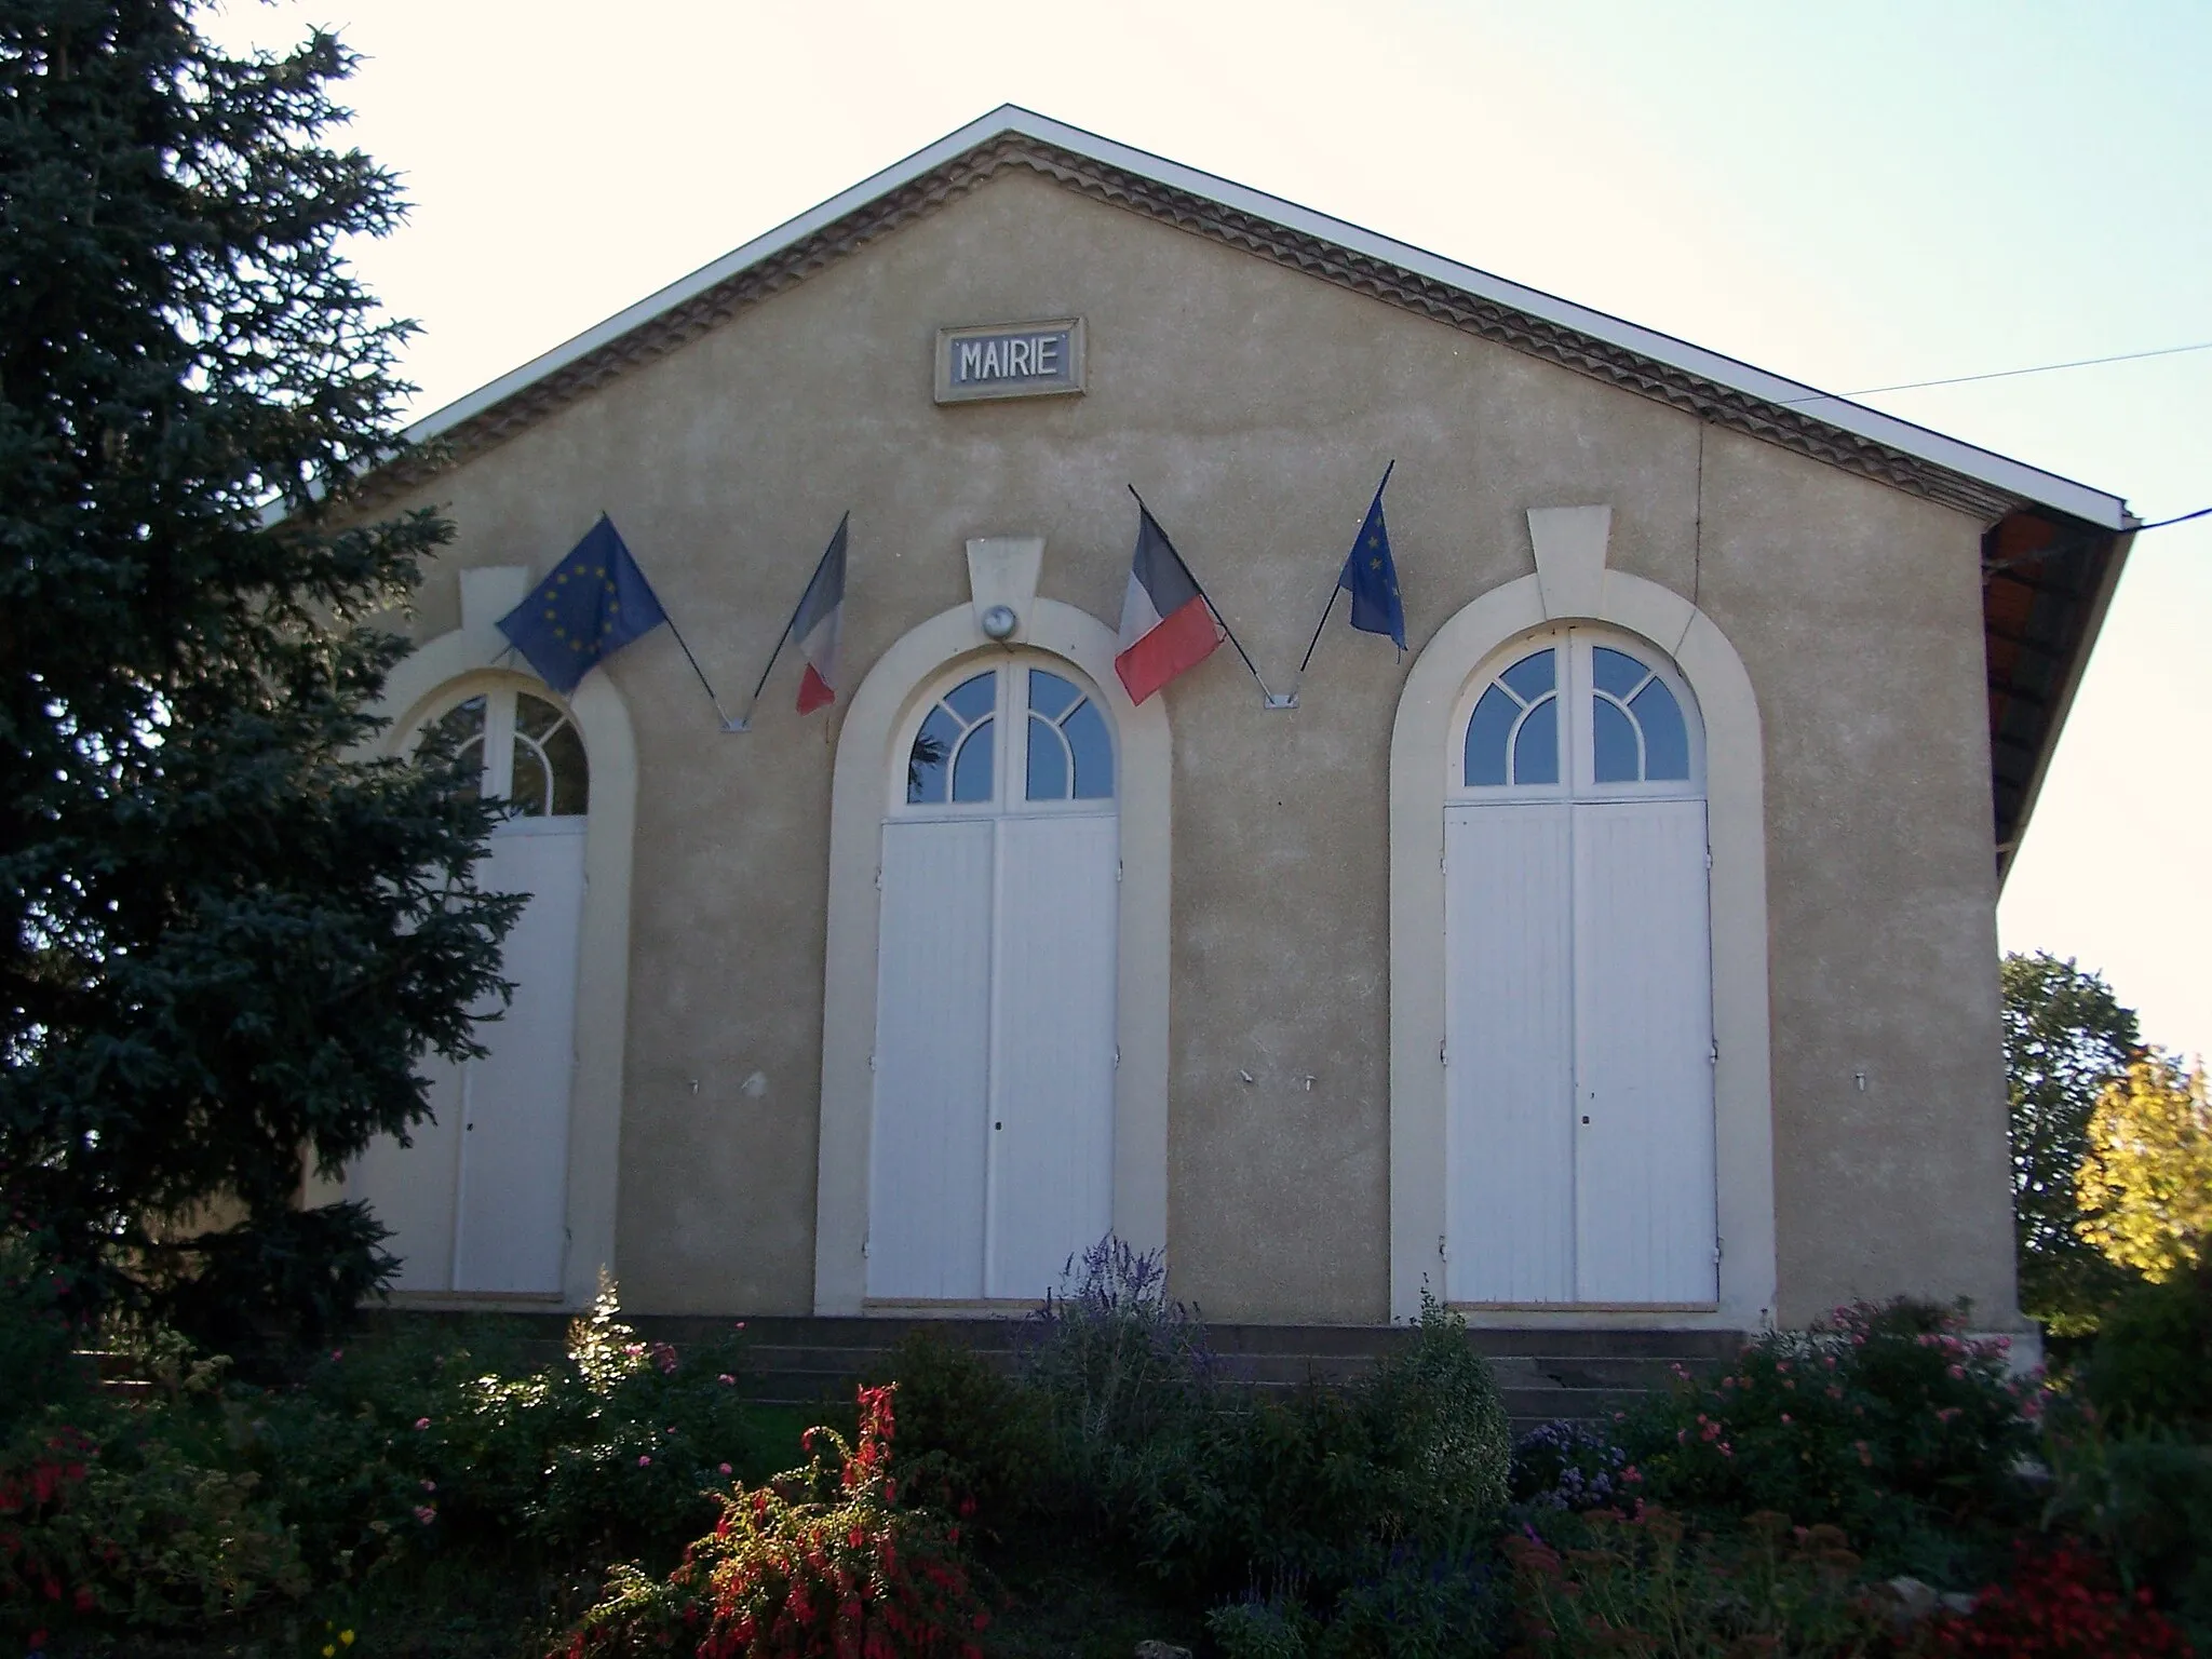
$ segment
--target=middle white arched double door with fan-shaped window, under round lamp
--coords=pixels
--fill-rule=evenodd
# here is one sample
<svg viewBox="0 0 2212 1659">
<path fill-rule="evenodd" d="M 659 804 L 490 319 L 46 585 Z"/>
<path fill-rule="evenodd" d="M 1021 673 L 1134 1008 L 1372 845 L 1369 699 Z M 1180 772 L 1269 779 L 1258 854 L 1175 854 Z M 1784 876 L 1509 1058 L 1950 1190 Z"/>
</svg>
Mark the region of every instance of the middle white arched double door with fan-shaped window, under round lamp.
<svg viewBox="0 0 2212 1659">
<path fill-rule="evenodd" d="M 993 653 L 894 754 L 867 1301 L 1033 1301 L 1115 1217 L 1113 719 L 1068 661 Z"/>
</svg>

